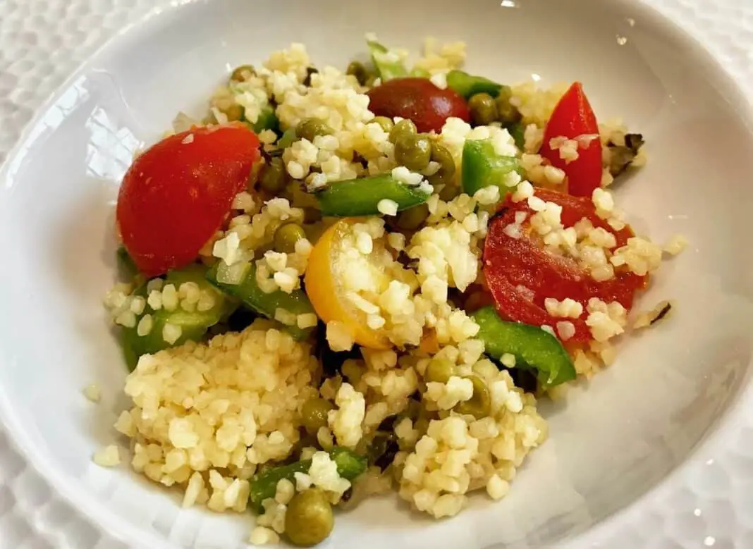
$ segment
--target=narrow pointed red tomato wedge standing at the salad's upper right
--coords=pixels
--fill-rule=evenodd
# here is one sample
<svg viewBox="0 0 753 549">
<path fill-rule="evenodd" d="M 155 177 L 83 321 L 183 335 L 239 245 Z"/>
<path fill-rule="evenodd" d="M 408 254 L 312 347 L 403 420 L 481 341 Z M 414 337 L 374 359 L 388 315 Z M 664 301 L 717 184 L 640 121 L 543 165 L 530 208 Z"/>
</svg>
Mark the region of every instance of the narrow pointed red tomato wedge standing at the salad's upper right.
<svg viewBox="0 0 753 549">
<path fill-rule="evenodd" d="M 575 82 L 562 95 L 552 116 L 544 128 L 544 142 L 541 144 L 542 157 L 552 166 L 562 169 L 568 178 L 569 193 L 576 197 L 590 197 L 593 190 L 602 182 L 602 142 L 593 139 L 587 148 L 578 148 L 578 158 L 566 163 L 559 157 L 559 149 L 553 150 L 549 141 L 553 137 L 565 136 L 568 139 L 584 134 L 599 135 L 596 115 L 583 92 L 580 82 Z"/>
</svg>

